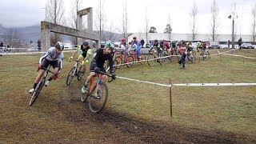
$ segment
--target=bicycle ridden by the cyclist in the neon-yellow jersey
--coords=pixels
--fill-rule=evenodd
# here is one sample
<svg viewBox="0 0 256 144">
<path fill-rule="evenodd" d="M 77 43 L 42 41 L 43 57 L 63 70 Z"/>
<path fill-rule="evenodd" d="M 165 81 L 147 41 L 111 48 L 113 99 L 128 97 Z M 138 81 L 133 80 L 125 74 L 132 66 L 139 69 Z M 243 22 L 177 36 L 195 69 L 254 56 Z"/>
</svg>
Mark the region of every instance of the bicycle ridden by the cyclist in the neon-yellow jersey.
<svg viewBox="0 0 256 144">
<path fill-rule="evenodd" d="M 82 66 L 80 64 L 79 68 L 78 65 L 80 64 L 80 62 L 78 60 L 75 60 L 74 66 L 72 67 L 72 69 L 70 70 L 69 75 L 66 78 L 66 85 L 70 85 L 70 82 L 72 82 L 74 76 L 78 77 L 78 81 L 80 81 L 82 79 L 82 76 L 84 75 L 85 71 L 82 71 Z"/>
</svg>

